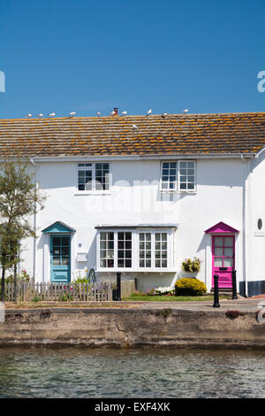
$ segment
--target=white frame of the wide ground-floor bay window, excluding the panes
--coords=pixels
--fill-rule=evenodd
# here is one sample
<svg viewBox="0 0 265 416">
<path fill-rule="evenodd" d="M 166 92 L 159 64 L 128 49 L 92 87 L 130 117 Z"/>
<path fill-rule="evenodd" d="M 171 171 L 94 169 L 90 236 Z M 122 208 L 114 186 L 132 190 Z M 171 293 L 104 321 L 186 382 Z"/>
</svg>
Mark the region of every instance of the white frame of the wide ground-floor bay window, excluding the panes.
<svg viewBox="0 0 265 416">
<path fill-rule="evenodd" d="M 114 267 L 100 266 L 100 233 L 114 233 Z M 117 233 L 132 233 L 132 267 L 117 267 Z M 140 267 L 140 233 L 151 234 L 151 267 Z M 167 267 L 155 267 L 155 234 L 167 234 Z M 155 229 L 132 229 L 132 228 L 106 228 L 99 229 L 97 232 L 97 250 L 96 250 L 96 265 L 97 272 L 141 272 L 141 273 L 175 273 L 174 261 L 174 235 L 175 230 L 170 228 L 155 228 Z"/>
</svg>

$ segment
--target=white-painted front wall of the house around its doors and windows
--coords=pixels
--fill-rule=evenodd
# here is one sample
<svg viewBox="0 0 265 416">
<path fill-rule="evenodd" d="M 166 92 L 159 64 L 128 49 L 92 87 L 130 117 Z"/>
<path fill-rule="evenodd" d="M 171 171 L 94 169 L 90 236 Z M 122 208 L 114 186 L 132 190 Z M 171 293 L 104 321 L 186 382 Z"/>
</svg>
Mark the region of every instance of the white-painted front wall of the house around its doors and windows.
<svg viewBox="0 0 265 416">
<path fill-rule="evenodd" d="M 265 169 L 265 164 L 255 169 Z M 168 286 L 182 276 L 181 263 L 186 257 L 201 258 L 197 277 L 211 288 L 211 241 L 204 231 L 219 221 L 242 231 L 243 185 L 245 164 L 241 159 L 199 159 L 197 161 L 197 190 L 194 193 L 161 194 L 159 190 L 160 161 L 112 161 L 112 189 L 108 195 L 78 195 L 77 164 L 74 162 L 39 163 L 40 188 L 48 199 L 44 210 L 37 214 L 38 240 L 36 281 L 49 281 L 49 235 L 42 229 L 60 220 L 76 229 L 72 237 L 72 277 L 96 265 L 95 226 L 108 223 L 172 223 L 179 224 L 176 232 L 176 273 L 126 273 L 123 278 L 137 277 L 139 289 Z M 261 175 L 259 173 L 259 181 Z M 261 184 L 260 184 L 261 186 Z M 255 195 L 258 192 L 254 191 Z M 257 196 L 258 197 L 258 196 Z M 264 199 L 264 196 L 262 196 Z M 261 203 L 262 204 L 262 203 Z M 265 215 L 264 204 L 254 219 Z M 256 238 L 256 240 L 258 240 Z M 78 244 L 82 247 L 79 249 Z M 258 243 L 258 241 L 257 241 Z M 242 232 L 236 240 L 236 268 L 243 280 Z M 259 240 L 265 248 L 265 238 Z M 259 250 L 263 250 L 263 245 Z M 27 242 L 23 266 L 33 269 L 33 243 Z M 87 252 L 87 263 L 77 262 L 79 251 Z M 261 275 L 261 270 L 257 270 Z M 99 275 L 99 279 L 115 280 L 115 274 Z M 264 276 L 265 277 L 265 276 Z"/>
</svg>

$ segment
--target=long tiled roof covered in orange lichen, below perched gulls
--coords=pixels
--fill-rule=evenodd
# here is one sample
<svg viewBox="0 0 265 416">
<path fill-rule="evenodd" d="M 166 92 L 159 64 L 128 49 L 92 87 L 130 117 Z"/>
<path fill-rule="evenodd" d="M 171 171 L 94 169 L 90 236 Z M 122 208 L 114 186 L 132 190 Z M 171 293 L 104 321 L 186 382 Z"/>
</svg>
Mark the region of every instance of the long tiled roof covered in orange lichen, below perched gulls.
<svg viewBox="0 0 265 416">
<path fill-rule="evenodd" d="M 0 144 L 0 157 L 247 154 L 265 144 L 265 112 L 0 119 Z"/>
</svg>

